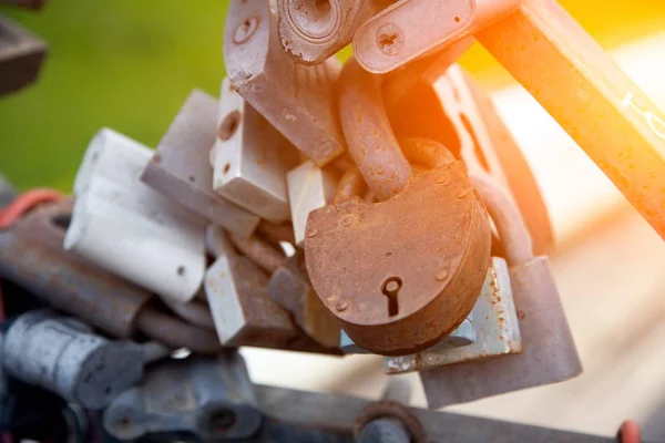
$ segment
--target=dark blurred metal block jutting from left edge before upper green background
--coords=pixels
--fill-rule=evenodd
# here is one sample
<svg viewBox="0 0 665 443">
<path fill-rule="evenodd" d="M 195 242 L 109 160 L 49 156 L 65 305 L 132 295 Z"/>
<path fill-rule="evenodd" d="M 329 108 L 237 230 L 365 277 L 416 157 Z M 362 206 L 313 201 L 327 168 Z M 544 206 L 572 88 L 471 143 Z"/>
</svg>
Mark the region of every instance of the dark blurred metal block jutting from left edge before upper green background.
<svg viewBox="0 0 665 443">
<path fill-rule="evenodd" d="M 0 94 L 34 82 L 45 54 L 47 44 L 42 40 L 0 17 Z"/>
</svg>

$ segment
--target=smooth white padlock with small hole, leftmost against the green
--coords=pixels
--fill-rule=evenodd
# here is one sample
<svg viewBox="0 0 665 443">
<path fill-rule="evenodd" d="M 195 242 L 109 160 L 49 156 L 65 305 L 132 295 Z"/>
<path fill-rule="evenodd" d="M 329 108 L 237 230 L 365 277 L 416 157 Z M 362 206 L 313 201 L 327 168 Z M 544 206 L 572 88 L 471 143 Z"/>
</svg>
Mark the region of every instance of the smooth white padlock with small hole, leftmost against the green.
<svg viewBox="0 0 665 443">
<path fill-rule="evenodd" d="M 205 272 L 205 219 L 140 179 L 146 146 L 103 128 L 74 181 L 64 248 L 172 301 L 190 301 Z"/>
</svg>

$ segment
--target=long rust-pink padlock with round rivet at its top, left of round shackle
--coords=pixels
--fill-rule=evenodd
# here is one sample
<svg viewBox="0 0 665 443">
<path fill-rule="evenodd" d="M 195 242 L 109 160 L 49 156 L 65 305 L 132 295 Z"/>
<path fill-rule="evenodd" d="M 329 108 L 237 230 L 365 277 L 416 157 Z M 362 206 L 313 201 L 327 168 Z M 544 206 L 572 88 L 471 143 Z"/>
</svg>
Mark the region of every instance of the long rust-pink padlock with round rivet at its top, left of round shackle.
<svg viewBox="0 0 665 443">
<path fill-rule="evenodd" d="M 224 60 L 231 83 L 318 166 L 341 155 L 335 58 L 296 63 L 282 48 L 276 0 L 234 1 L 226 18 Z"/>
</svg>

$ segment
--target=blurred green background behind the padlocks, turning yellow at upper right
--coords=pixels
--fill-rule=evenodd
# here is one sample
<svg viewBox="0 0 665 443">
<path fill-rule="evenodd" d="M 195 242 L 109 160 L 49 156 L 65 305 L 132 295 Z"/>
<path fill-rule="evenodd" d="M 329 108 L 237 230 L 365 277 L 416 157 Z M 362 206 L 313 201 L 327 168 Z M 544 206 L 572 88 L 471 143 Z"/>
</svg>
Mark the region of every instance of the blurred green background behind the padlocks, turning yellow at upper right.
<svg viewBox="0 0 665 443">
<path fill-rule="evenodd" d="M 561 3 L 605 48 L 665 30 L 663 0 Z M 193 87 L 217 95 L 228 4 L 50 0 L 39 13 L 1 7 L 50 50 L 37 84 L 0 96 L 0 173 L 22 189 L 69 190 L 100 127 L 155 146 Z M 488 85 L 508 81 L 481 48 L 462 64 Z"/>
</svg>

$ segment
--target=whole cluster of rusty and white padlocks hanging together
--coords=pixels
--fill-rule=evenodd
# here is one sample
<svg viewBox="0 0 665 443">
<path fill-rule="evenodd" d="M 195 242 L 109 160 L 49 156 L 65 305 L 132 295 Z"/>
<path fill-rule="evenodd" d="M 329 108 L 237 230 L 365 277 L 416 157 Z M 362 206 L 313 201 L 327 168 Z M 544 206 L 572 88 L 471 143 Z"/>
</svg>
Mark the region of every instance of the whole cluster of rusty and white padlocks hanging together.
<svg viewBox="0 0 665 443">
<path fill-rule="evenodd" d="M 577 375 L 545 205 L 456 64 L 554 7 L 389 3 L 234 1 L 218 97 L 193 91 L 154 151 L 102 128 L 72 197 L 0 231 L 0 277 L 58 311 L 19 309 L 2 369 L 119 439 L 252 435 L 238 347 L 380 354 L 431 408 Z"/>
</svg>

